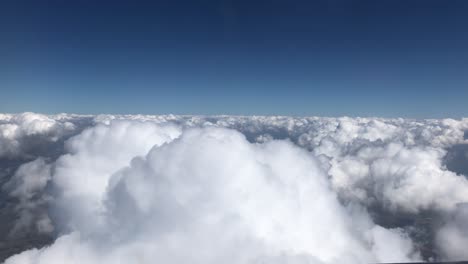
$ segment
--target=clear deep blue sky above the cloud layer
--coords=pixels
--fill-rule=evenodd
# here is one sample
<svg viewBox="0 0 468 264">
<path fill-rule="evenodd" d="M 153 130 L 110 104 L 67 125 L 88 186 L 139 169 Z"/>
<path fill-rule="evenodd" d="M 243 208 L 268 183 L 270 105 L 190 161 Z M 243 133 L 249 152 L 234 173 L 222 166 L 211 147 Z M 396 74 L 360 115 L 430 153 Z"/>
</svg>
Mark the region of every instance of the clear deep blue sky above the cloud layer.
<svg viewBox="0 0 468 264">
<path fill-rule="evenodd" d="M 0 112 L 468 116 L 468 1 L 0 2 Z"/>
</svg>

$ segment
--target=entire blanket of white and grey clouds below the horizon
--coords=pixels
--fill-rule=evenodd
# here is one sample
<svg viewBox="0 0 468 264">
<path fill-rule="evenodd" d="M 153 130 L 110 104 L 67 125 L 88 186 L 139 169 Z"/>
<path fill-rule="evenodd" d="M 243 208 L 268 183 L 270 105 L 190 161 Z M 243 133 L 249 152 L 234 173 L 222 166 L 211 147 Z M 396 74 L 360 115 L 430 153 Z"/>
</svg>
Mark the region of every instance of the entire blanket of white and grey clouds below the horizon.
<svg viewBox="0 0 468 264">
<path fill-rule="evenodd" d="M 468 119 L 0 115 L 0 257 L 468 259 L 467 131 Z"/>
</svg>

